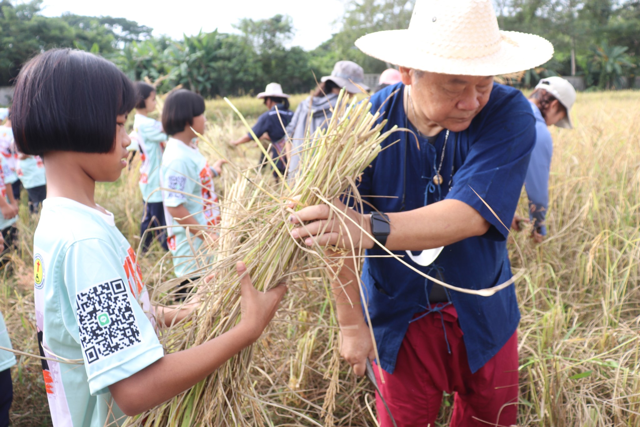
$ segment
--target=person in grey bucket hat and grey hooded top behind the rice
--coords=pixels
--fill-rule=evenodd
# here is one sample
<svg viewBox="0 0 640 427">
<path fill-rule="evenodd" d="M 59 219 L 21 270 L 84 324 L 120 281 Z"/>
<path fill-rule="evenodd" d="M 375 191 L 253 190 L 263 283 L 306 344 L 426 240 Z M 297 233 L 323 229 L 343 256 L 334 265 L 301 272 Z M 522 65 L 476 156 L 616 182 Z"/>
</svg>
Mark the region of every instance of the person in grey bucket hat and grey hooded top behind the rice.
<svg viewBox="0 0 640 427">
<path fill-rule="evenodd" d="M 294 180 L 298 171 L 300 150 L 307 134 L 311 136 L 316 129 L 328 125 L 340 90 L 344 88 L 350 95 L 369 90 L 369 86 L 364 84 L 364 70 L 352 61 L 338 61 L 333 66 L 331 76 L 324 76 L 320 81 L 316 92 L 300 102 L 291 122 L 287 125 L 289 181 Z"/>
</svg>

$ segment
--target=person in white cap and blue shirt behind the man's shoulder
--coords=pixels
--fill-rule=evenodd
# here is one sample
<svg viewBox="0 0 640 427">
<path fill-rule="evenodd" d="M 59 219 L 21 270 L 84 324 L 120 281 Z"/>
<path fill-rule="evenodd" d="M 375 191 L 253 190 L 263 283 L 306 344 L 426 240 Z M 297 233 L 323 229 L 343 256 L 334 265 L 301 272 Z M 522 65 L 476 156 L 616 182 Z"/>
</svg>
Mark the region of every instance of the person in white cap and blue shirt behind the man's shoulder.
<svg viewBox="0 0 640 427">
<path fill-rule="evenodd" d="M 549 173 L 553 141 L 548 126 L 556 125 L 573 129 L 570 110 L 575 102 L 575 89 L 562 77 L 542 79 L 529 95 L 531 109 L 536 117 L 536 145 L 531 152 L 531 161 L 524 187 L 529 197 L 529 219 L 515 215 L 511 228 L 520 231 L 522 223 L 532 223 L 531 238 L 541 243 L 547 236 L 547 210 L 549 207 Z"/>
</svg>

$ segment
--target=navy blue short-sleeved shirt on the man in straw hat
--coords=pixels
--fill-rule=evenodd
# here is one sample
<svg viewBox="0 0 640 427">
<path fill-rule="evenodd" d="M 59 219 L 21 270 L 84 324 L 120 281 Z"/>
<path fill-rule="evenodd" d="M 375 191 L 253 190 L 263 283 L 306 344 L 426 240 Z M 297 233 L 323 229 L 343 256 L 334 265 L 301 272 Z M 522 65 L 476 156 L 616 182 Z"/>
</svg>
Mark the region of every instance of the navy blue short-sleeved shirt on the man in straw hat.
<svg viewBox="0 0 640 427">
<path fill-rule="evenodd" d="M 381 106 L 396 90 L 387 104 Z M 388 120 L 383 131 L 394 125 L 407 126 L 403 93 L 404 85 L 399 83 L 371 97 L 371 111 L 380 108 L 385 112 L 380 120 Z M 474 207 L 490 223 L 484 236 L 445 246 L 431 266 L 419 266 L 406 256 L 403 259 L 454 286 L 468 289 L 496 286 L 511 278 L 506 245 L 509 230 L 500 220 L 507 226 L 511 224 L 536 140 L 531 104 L 520 91 L 494 84 L 488 103 L 469 127 L 449 134 L 440 170 L 444 183 L 431 185 L 440 164 L 445 133 L 442 131 L 433 143 L 426 138 L 416 141 L 413 134 L 406 132 L 392 134 L 382 143 L 383 147 L 390 147 L 362 174 L 358 190 L 365 202 L 381 212 L 410 211 L 423 207 L 425 202 L 431 204 L 445 198 Z M 365 207 L 367 213 L 371 210 Z M 429 227 L 429 223 L 423 226 Z M 403 251 L 395 253 L 406 255 Z M 367 255 L 386 253 L 372 249 L 367 250 Z M 410 320 L 427 310 L 427 296 L 433 283 L 388 257 L 365 259 L 362 281 L 381 366 L 393 373 Z M 449 296 L 464 333 L 469 367 L 476 372 L 518 327 L 520 312 L 515 286 L 490 297 L 456 291 L 450 291 Z"/>
</svg>

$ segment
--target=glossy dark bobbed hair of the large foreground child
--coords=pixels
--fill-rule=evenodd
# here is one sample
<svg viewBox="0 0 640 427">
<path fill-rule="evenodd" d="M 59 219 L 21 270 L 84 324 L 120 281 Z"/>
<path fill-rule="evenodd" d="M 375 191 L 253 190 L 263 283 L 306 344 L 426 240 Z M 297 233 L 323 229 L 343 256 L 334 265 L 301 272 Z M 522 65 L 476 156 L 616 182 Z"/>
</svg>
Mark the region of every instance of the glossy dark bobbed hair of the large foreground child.
<svg viewBox="0 0 640 427">
<path fill-rule="evenodd" d="M 116 117 L 136 104 L 131 81 L 113 63 L 76 49 L 52 49 L 26 63 L 15 83 L 12 128 L 24 154 L 108 153 Z"/>
</svg>

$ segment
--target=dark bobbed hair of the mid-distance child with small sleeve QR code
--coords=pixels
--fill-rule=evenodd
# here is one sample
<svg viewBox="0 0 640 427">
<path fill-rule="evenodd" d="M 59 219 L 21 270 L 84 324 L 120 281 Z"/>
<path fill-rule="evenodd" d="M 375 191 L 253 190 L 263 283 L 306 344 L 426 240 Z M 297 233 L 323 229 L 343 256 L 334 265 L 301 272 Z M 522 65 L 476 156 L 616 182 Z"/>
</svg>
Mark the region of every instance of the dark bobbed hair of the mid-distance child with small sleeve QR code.
<svg viewBox="0 0 640 427">
<path fill-rule="evenodd" d="M 204 98 L 195 92 L 179 89 L 169 94 L 162 110 L 162 127 L 168 135 L 184 131 L 193 118 L 204 114 Z"/>
</svg>

